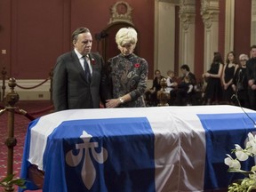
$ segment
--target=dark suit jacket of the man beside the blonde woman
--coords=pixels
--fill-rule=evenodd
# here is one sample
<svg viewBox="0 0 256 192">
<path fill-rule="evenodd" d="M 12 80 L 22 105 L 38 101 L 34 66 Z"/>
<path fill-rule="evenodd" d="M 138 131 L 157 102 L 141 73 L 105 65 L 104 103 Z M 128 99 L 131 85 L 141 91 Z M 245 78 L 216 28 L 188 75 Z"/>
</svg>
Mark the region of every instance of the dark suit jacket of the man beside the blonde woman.
<svg viewBox="0 0 256 192">
<path fill-rule="evenodd" d="M 56 111 L 74 108 L 100 108 L 108 97 L 104 83 L 105 70 L 102 57 L 89 54 L 92 65 L 92 80 L 88 84 L 76 52 L 67 52 L 57 59 L 53 71 L 52 100 Z"/>
</svg>

